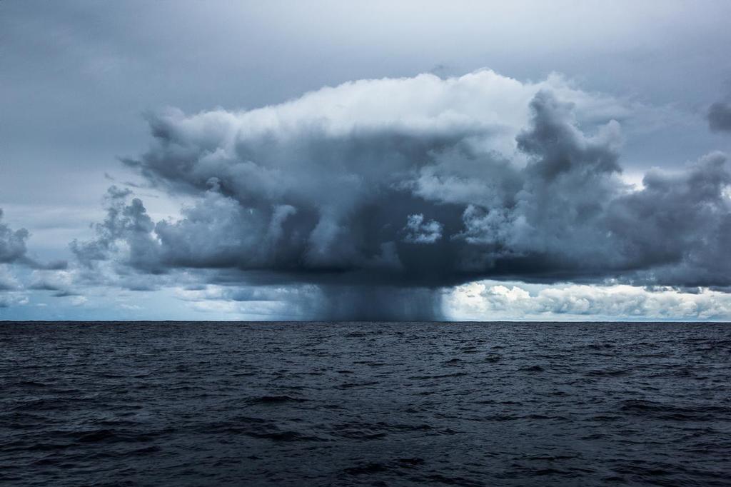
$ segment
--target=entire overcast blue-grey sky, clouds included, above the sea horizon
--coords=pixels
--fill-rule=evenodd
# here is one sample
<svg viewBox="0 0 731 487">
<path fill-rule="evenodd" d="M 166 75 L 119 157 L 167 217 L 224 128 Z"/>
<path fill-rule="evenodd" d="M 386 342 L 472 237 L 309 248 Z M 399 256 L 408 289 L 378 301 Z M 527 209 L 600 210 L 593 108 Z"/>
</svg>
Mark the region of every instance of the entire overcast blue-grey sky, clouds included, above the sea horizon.
<svg viewBox="0 0 731 487">
<path fill-rule="evenodd" d="M 0 319 L 729 320 L 729 18 L 0 1 Z"/>
</svg>

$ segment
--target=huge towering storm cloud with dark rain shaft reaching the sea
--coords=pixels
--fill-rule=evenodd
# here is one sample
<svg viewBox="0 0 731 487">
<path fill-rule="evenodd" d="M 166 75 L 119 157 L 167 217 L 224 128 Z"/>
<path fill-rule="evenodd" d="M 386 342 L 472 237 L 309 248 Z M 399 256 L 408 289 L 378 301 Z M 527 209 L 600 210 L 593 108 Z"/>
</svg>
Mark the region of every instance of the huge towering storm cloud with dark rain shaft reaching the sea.
<svg viewBox="0 0 731 487">
<path fill-rule="evenodd" d="M 634 189 L 620 177 L 625 115 L 556 76 L 487 70 L 362 80 L 257 110 L 168 110 L 148 117 L 151 148 L 125 163 L 196 203 L 153 222 L 110 189 L 97 237 L 72 249 L 89 267 L 317 284 L 333 318 L 438 317 L 440 288 L 487 277 L 730 285 L 726 156 L 653 170 Z"/>
</svg>

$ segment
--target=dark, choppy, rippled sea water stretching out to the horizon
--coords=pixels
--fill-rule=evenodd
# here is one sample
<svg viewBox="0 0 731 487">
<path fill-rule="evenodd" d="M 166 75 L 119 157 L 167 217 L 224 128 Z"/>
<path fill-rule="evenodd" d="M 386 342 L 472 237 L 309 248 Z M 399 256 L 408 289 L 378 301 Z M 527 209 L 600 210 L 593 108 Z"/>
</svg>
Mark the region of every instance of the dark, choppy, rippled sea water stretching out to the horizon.
<svg viewBox="0 0 731 487">
<path fill-rule="evenodd" d="M 731 485 L 731 325 L 0 324 L 0 483 Z"/>
</svg>

